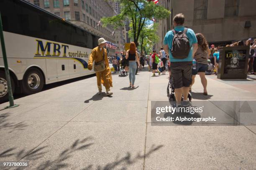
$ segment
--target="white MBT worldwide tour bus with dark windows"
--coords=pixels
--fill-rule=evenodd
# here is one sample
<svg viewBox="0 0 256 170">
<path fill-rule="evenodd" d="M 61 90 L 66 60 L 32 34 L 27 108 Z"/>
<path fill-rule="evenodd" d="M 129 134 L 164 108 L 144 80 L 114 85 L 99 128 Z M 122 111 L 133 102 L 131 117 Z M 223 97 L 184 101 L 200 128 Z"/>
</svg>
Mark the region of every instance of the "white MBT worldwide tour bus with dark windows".
<svg viewBox="0 0 256 170">
<path fill-rule="evenodd" d="M 97 35 L 25 0 L 0 0 L 13 92 L 33 94 L 44 84 L 94 74 L 87 69 Z M 0 46 L 0 100 L 8 98 Z"/>
</svg>

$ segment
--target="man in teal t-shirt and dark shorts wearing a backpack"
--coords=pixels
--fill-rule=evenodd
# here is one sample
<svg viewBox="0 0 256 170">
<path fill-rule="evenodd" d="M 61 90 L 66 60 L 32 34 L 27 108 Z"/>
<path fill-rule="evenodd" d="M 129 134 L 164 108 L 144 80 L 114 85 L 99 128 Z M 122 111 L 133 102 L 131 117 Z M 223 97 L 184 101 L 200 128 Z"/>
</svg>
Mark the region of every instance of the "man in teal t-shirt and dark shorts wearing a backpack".
<svg viewBox="0 0 256 170">
<path fill-rule="evenodd" d="M 169 55 L 170 70 L 174 82 L 177 106 L 188 106 L 187 96 L 192 77 L 192 60 L 197 50 L 197 37 L 192 29 L 184 28 L 184 15 L 174 16 L 174 30 L 168 31 L 164 37 L 164 50 Z"/>
</svg>

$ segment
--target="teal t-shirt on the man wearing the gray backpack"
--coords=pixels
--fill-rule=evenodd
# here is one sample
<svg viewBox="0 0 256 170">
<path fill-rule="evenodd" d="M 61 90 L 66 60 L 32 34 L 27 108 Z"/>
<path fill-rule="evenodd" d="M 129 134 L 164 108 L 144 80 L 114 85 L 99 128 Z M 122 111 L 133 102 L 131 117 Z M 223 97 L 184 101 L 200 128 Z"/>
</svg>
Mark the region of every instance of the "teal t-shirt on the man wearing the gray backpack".
<svg viewBox="0 0 256 170">
<path fill-rule="evenodd" d="M 179 32 L 179 31 L 183 31 L 184 30 L 184 27 L 183 26 L 177 26 L 174 28 L 174 30 L 176 32 Z M 169 59 L 171 62 L 181 62 L 181 61 L 192 61 L 193 60 L 193 57 L 192 57 L 192 44 L 195 44 L 197 43 L 197 37 L 195 35 L 195 32 L 193 30 L 191 30 L 190 28 L 188 28 L 187 30 L 187 37 L 189 38 L 189 44 L 190 44 L 190 51 L 189 51 L 189 55 L 187 58 L 184 58 L 184 59 L 176 59 L 172 56 L 172 53 L 171 53 L 171 50 L 172 50 L 172 38 L 173 38 L 174 34 L 171 31 L 168 31 L 164 37 L 164 45 L 168 45 L 169 47 Z"/>
</svg>

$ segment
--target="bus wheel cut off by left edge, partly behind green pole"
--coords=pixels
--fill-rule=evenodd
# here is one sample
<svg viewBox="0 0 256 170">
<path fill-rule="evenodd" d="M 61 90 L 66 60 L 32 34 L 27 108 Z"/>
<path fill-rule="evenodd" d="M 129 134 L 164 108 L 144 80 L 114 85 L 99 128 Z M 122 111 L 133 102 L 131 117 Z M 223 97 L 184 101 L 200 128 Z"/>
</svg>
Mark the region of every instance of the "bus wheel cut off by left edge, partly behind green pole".
<svg viewBox="0 0 256 170">
<path fill-rule="evenodd" d="M 13 77 L 10 75 L 11 85 L 12 85 L 12 91 L 14 93 L 15 91 L 15 83 L 13 80 Z M 5 72 L 0 71 L 0 102 L 6 102 L 9 99 L 8 94 L 8 86 L 7 86 L 7 80 L 5 77 Z"/>
</svg>

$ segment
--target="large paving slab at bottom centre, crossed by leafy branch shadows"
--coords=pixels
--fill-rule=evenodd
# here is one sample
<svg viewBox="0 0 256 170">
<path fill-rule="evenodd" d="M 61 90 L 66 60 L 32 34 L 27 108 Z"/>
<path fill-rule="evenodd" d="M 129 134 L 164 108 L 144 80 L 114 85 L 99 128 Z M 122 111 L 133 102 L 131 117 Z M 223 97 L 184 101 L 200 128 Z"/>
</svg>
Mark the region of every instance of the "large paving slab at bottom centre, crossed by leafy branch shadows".
<svg viewBox="0 0 256 170">
<path fill-rule="evenodd" d="M 46 140 L 44 157 L 31 169 L 143 169 L 145 123 L 69 122 Z"/>
</svg>

